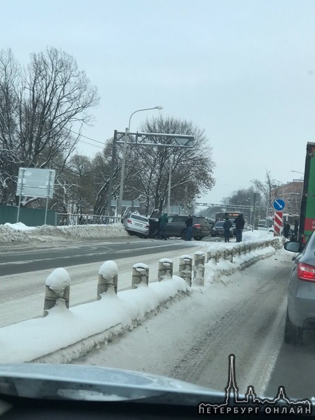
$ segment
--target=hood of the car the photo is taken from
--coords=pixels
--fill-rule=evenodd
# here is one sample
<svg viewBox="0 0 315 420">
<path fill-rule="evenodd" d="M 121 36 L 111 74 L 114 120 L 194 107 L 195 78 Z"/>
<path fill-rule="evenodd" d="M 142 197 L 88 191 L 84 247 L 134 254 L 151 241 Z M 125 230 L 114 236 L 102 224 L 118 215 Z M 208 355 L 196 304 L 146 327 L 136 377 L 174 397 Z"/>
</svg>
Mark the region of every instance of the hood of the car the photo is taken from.
<svg viewBox="0 0 315 420">
<path fill-rule="evenodd" d="M 83 401 L 197 405 L 223 393 L 172 378 L 75 364 L 0 364 L 0 399 L 16 396 Z"/>
</svg>

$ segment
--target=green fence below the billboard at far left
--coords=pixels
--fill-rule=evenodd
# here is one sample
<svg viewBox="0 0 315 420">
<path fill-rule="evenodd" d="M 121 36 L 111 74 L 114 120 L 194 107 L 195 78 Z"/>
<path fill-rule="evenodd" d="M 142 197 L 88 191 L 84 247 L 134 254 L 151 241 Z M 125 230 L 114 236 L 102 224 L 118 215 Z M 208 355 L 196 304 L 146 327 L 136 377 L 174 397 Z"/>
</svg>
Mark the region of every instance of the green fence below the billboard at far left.
<svg viewBox="0 0 315 420">
<path fill-rule="evenodd" d="M 4 223 L 17 223 L 17 207 L 0 206 L 0 225 Z M 28 207 L 21 207 L 19 209 L 19 222 L 26 226 L 42 226 L 45 223 L 44 209 L 29 209 Z M 47 225 L 56 226 L 57 212 L 48 210 Z"/>
</svg>

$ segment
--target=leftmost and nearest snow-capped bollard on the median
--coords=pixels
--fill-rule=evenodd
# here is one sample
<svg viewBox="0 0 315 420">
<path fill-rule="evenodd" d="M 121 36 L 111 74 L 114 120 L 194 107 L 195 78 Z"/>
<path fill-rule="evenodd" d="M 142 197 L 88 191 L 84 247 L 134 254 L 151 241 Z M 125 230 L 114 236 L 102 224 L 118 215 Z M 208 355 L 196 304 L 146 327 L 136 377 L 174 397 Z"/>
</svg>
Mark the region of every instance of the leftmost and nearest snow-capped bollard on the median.
<svg viewBox="0 0 315 420">
<path fill-rule="evenodd" d="M 70 299 L 70 275 L 65 268 L 56 268 L 46 279 L 44 316 L 48 315 L 49 309 L 56 305 L 58 299 L 65 301 L 69 309 Z"/>
</svg>

